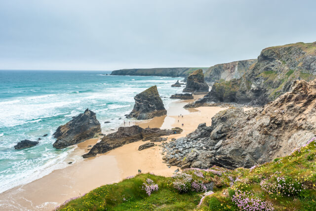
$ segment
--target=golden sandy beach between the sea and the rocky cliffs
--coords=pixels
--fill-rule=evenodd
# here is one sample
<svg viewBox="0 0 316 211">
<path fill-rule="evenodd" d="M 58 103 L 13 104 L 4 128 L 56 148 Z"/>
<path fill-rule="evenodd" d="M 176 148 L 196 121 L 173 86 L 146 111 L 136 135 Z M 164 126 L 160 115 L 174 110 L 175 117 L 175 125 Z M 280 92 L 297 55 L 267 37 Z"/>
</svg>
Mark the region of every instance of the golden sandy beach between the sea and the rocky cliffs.
<svg viewBox="0 0 316 211">
<path fill-rule="evenodd" d="M 165 136 L 169 141 L 171 138 L 179 138 L 194 131 L 200 123 L 210 126 L 211 118 L 217 112 L 226 109 L 222 107 L 184 109 L 183 106 L 188 102 L 190 101 L 175 101 L 169 105 L 166 116 L 149 121 L 131 121 L 130 125 L 160 128 L 181 127 L 183 129 L 181 134 Z M 128 122 L 126 122 L 126 126 L 129 126 Z M 83 155 L 90 148 L 89 145 L 93 145 L 98 140 L 98 138 L 94 138 L 78 144 L 73 154 L 70 155 L 69 161 L 72 161 L 72 156 Z M 178 169 L 177 167 L 168 168 L 162 162 L 159 143 L 152 148 L 138 151 L 138 147 L 144 143 L 144 141 L 138 141 L 94 158 L 79 159 L 67 168 L 54 170 L 38 180 L 1 193 L 1 210 L 53 210 L 67 199 L 135 175 L 138 169 L 142 169 L 144 173 L 152 172 L 163 176 L 171 176 Z"/>
</svg>

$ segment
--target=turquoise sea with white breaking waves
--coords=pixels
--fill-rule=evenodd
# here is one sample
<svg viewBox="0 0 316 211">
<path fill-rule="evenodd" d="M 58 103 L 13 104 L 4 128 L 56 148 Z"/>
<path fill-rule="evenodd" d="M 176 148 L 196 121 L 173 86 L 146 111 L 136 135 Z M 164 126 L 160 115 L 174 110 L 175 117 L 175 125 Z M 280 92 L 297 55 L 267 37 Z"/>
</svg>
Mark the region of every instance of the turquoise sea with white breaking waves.
<svg viewBox="0 0 316 211">
<path fill-rule="evenodd" d="M 53 148 L 56 139 L 52 134 L 85 109 L 96 113 L 102 132 L 107 133 L 126 121 L 124 115 L 133 109 L 137 93 L 157 85 L 168 108 L 174 101 L 170 95 L 183 89 L 171 87 L 183 78 L 107 75 L 110 73 L 0 70 L 0 193 L 69 166 L 66 159 L 76 146 Z M 35 147 L 14 149 L 21 140 L 38 138 Z"/>
</svg>

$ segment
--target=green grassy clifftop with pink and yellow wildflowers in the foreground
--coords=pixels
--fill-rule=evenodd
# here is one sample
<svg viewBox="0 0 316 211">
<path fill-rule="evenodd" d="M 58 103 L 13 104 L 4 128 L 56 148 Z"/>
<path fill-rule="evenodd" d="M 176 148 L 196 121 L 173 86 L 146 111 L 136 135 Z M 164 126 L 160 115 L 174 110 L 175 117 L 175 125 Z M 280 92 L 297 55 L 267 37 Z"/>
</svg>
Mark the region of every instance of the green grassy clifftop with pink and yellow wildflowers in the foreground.
<svg viewBox="0 0 316 211">
<path fill-rule="evenodd" d="M 202 193 L 192 190 L 180 193 L 173 186 L 175 178 L 147 173 L 138 174 L 119 183 L 101 186 L 78 199 L 65 203 L 57 210 L 237 211 L 244 209 L 234 201 L 234 197 L 241 196 L 241 193 L 246 193 L 244 195 L 247 198 L 241 200 L 242 203 L 256 199 L 260 203 L 273 206 L 277 211 L 316 210 L 316 141 L 314 140 L 288 156 L 276 158 L 272 162 L 251 169 L 229 170 L 213 167 L 208 170 L 186 169 L 183 172 L 191 175 L 195 181 L 214 184 L 213 194 L 204 197 L 200 207 L 198 204 Z M 141 188 L 147 178 L 152 179 L 159 187 L 158 191 L 150 196 Z M 277 178 L 283 178 L 285 182 Z M 266 188 L 264 184 L 269 184 L 270 186 L 267 187 L 272 188 Z M 295 188 L 278 190 L 276 188 L 278 184 Z M 246 205 L 253 206 L 251 203 Z"/>
</svg>

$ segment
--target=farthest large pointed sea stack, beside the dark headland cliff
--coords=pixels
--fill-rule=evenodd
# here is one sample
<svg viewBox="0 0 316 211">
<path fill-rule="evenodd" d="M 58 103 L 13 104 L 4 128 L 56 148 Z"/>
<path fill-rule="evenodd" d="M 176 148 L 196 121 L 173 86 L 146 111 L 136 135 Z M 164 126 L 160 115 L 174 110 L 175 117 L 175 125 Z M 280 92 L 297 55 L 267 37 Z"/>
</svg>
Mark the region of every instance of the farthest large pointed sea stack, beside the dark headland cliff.
<svg viewBox="0 0 316 211">
<path fill-rule="evenodd" d="M 208 85 L 204 82 L 204 74 L 202 69 L 198 69 L 188 76 L 188 81 L 183 92 L 193 92 L 194 94 L 201 94 L 208 92 Z"/>
</svg>

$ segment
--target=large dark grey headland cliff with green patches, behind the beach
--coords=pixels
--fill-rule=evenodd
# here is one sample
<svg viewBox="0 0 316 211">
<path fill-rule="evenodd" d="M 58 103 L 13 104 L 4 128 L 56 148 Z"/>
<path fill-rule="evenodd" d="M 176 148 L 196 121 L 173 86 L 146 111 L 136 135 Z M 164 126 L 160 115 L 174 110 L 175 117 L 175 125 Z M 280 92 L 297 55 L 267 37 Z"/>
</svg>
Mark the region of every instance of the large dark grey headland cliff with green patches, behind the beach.
<svg viewBox="0 0 316 211">
<path fill-rule="evenodd" d="M 264 105 L 289 90 L 292 81 L 316 78 L 316 42 L 268 47 L 240 79 L 215 83 L 204 98 L 188 105 L 214 102 Z"/>
</svg>

